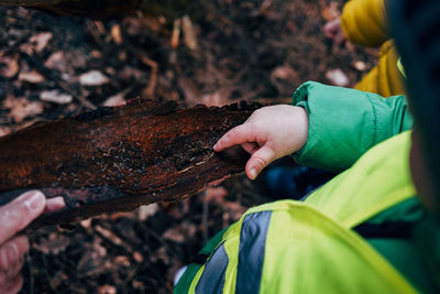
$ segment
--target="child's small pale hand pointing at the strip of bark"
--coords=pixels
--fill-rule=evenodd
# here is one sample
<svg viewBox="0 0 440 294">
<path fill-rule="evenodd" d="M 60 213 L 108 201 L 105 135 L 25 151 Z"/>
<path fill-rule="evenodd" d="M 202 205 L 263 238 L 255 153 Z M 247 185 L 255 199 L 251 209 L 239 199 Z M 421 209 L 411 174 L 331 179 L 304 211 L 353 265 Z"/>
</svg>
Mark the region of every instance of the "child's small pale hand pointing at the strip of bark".
<svg viewBox="0 0 440 294">
<path fill-rule="evenodd" d="M 304 108 L 278 105 L 256 110 L 227 132 L 213 146 L 216 152 L 241 144 L 252 154 L 246 175 L 254 179 L 271 162 L 301 149 L 307 141 L 308 116 Z"/>
</svg>

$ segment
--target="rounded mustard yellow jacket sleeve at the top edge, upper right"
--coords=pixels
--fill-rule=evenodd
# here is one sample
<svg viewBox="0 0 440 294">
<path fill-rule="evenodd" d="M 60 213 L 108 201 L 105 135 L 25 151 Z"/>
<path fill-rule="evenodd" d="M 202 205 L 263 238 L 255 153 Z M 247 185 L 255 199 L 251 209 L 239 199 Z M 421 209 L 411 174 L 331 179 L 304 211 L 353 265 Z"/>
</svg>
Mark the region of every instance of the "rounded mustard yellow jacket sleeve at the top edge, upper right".
<svg viewBox="0 0 440 294">
<path fill-rule="evenodd" d="M 341 15 L 341 26 L 348 40 L 376 47 L 391 37 L 385 0 L 351 0 Z"/>
</svg>

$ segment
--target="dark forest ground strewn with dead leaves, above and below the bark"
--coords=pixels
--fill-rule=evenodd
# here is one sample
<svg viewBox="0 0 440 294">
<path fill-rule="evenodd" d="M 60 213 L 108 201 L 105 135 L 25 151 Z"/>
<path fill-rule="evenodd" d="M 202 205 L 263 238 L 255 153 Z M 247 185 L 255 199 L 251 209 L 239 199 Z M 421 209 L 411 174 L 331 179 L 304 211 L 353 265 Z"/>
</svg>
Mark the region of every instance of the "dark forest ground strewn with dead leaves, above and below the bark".
<svg viewBox="0 0 440 294">
<path fill-rule="evenodd" d="M 0 135 L 143 96 L 278 104 L 306 80 L 353 86 L 376 51 L 322 34 L 343 1 L 193 1 L 182 15 L 94 21 L 0 8 Z M 22 293 L 168 293 L 218 230 L 273 200 L 235 176 L 174 204 L 32 232 Z"/>
</svg>

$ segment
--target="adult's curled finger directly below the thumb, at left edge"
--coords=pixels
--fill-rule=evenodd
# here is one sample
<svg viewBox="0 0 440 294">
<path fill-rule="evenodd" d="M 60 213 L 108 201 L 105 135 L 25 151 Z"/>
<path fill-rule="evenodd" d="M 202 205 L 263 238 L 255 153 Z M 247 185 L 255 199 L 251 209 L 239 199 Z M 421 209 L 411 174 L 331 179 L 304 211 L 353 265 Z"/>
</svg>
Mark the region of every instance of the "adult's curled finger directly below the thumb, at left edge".
<svg viewBox="0 0 440 294">
<path fill-rule="evenodd" d="M 25 236 L 16 236 L 0 247 L 0 271 L 9 272 L 19 263 L 29 250 L 29 240 Z"/>
</svg>

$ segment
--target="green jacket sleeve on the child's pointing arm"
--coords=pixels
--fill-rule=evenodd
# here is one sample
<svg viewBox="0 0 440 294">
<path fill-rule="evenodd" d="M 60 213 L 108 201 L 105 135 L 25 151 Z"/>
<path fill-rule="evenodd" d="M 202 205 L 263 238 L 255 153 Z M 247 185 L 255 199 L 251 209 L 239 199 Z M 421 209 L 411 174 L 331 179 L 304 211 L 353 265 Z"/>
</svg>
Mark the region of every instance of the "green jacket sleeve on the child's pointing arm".
<svg viewBox="0 0 440 294">
<path fill-rule="evenodd" d="M 299 164 L 341 172 L 375 144 L 413 127 L 405 96 L 376 94 L 302 84 L 293 105 L 309 116 L 306 145 L 294 154 Z"/>
</svg>

